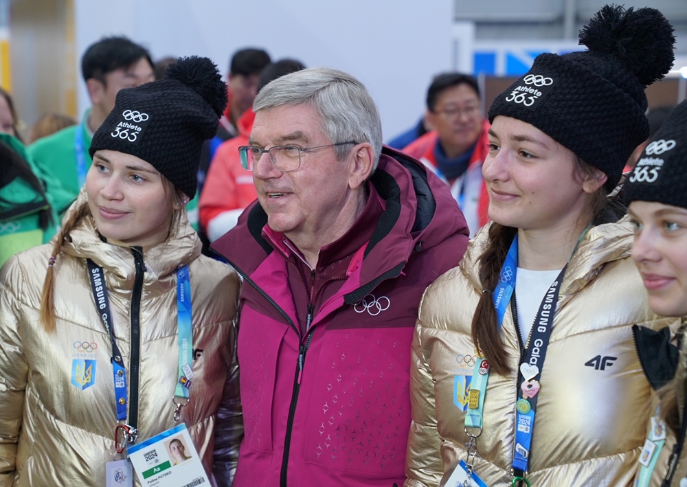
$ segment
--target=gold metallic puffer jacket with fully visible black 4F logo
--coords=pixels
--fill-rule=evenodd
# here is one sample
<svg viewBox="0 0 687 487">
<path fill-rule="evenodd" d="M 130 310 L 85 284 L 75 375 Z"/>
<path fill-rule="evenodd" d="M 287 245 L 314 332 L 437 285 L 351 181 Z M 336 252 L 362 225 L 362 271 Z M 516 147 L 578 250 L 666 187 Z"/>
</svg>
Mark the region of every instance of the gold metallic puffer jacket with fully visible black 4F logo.
<svg viewBox="0 0 687 487">
<path fill-rule="evenodd" d="M 485 227 L 460 267 L 431 284 L 420 304 L 411 365 L 412 417 L 406 486 L 446 482 L 466 460 L 466 385 L 475 354 L 471 323 L 480 298 L 479 258 Z M 635 352 L 631 326 L 653 329 L 679 320 L 657 319 L 630 258 L 627 219 L 587 232 L 561 285 L 543 365 L 534 422 L 532 486 L 629 486 L 644 444 L 651 391 Z M 501 338 L 512 373 L 489 375 L 484 431 L 475 472 L 486 485 L 510 486 L 515 448 L 519 346 L 510 309 Z"/>
</svg>

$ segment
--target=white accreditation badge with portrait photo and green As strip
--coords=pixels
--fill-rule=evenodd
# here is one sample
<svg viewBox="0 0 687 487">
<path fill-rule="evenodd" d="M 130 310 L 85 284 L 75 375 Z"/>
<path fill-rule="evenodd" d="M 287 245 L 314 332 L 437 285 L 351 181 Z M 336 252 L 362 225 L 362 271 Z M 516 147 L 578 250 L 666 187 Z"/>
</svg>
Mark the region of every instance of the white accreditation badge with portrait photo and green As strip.
<svg viewBox="0 0 687 487">
<path fill-rule="evenodd" d="M 128 447 L 129 459 L 144 487 L 210 485 L 185 424 Z"/>
</svg>

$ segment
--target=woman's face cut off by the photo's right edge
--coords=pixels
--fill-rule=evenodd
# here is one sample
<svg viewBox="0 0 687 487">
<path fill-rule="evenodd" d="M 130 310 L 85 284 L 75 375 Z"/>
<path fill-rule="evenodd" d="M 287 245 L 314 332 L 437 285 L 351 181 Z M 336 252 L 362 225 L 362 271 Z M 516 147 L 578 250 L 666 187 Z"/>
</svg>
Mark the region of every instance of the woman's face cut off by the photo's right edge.
<svg viewBox="0 0 687 487">
<path fill-rule="evenodd" d="M 662 316 L 687 315 L 687 209 L 633 201 L 632 258 L 649 293 L 649 307 Z"/>
</svg>

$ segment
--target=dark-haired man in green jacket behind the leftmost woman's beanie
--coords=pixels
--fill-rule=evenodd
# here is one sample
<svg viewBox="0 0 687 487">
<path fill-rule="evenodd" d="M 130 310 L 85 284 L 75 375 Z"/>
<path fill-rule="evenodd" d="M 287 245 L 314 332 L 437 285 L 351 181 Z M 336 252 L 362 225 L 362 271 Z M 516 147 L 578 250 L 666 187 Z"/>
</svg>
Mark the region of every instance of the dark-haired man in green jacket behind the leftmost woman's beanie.
<svg viewBox="0 0 687 487">
<path fill-rule="evenodd" d="M 58 214 L 76 199 L 86 179 L 92 163 L 91 137 L 115 106 L 117 93 L 155 80 L 148 51 L 125 37 L 102 38 L 91 45 L 81 60 L 81 71 L 93 104 L 82 122 L 39 139 L 28 148 L 36 164 L 54 174 L 72 194 L 65 207 L 56 208 Z"/>
</svg>

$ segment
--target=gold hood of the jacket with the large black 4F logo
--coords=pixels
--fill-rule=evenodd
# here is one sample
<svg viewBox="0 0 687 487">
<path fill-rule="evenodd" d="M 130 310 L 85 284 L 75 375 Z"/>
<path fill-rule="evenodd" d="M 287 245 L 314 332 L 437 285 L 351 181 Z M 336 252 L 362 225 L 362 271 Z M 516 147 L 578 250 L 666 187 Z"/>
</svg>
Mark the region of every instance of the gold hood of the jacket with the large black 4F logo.
<svg viewBox="0 0 687 487">
<path fill-rule="evenodd" d="M 484 226 L 475 235 L 460 263 L 462 273 L 477 292 L 482 290 L 478 261 L 486 249 L 491 225 L 493 224 L 489 223 Z M 570 264 L 567 265 L 565 278 L 561 284 L 559 306 L 592 282 L 605 264 L 629 257 L 632 250 L 632 240 L 632 226 L 627 216 L 616 223 L 604 223 L 590 228 L 578 245 Z"/>
</svg>

